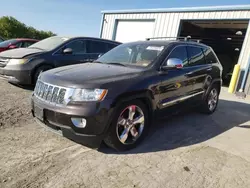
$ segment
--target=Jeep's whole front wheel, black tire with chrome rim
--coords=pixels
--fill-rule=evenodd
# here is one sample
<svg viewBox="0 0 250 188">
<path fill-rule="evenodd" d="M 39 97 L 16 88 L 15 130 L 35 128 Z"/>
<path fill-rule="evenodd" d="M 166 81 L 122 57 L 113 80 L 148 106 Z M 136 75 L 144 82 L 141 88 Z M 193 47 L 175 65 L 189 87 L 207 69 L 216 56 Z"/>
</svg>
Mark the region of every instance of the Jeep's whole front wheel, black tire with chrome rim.
<svg viewBox="0 0 250 188">
<path fill-rule="evenodd" d="M 115 112 L 116 114 L 104 139 L 105 144 L 117 151 L 135 148 L 143 141 L 149 130 L 150 118 L 146 105 L 140 100 L 132 100 L 119 105 Z M 130 117 L 129 112 L 132 112 Z M 135 112 L 134 115 L 132 115 L 133 112 Z M 139 123 L 133 124 L 132 122 L 135 122 L 135 120 Z"/>
</svg>

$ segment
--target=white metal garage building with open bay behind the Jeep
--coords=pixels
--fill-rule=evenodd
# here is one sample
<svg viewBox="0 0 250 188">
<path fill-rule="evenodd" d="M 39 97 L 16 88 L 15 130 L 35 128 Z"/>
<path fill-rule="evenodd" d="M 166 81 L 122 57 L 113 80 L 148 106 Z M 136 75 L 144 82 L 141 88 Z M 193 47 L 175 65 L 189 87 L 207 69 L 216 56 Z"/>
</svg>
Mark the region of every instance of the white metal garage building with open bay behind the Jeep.
<svg viewBox="0 0 250 188">
<path fill-rule="evenodd" d="M 237 90 L 250 94 L 250 5 L 103 11 L 100 37 L 130 42 L 150 37 L 191 36 L 217 53 L 230 81 L 239 63 Z M 229 80 L 226 80 L 229 78 Z"/>
</svg>

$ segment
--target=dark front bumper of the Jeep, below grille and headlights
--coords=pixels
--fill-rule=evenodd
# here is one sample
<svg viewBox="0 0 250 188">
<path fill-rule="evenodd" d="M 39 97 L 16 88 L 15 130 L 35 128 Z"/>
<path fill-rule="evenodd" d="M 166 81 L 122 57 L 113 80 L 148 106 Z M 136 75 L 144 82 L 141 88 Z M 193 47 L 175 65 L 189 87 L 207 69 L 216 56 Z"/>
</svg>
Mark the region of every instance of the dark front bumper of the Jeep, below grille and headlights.
<svg viewBox="0 0 250 188">
<path fill-rule="evenodd" d="M 34 117 L 36 106 L 43 110 L 42 120 L 36 118 L 40 125 L 91 148 L 98 148 L 102 143 L 113 113 L 108 100 L 101 103 L 89 102 L 81 105 L 53 106 L 32 96 L 31 106 Z M 74 126 L 71 121 L 72 117 L 86 119 L 86 127 Z"/>
</svg>

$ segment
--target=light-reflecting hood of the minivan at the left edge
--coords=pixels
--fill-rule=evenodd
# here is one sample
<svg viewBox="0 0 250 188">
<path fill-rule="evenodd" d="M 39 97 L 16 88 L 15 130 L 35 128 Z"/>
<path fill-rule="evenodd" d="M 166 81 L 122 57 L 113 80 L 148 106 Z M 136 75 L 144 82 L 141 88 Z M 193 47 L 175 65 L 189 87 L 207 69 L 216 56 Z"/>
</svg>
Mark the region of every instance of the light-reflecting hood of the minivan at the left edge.
<svg viewBox="0 0 250 188">
<path fill-rule="evenodd" d="M 7 50 L 0 53 L 0 57 L 6 57 L 6 58 L 24 58 L 27 55 L 42 53 L 43 50 L 40 49 L 34 49 L 34 48 L 17 48 L 12 50 Z"/>
</svg>

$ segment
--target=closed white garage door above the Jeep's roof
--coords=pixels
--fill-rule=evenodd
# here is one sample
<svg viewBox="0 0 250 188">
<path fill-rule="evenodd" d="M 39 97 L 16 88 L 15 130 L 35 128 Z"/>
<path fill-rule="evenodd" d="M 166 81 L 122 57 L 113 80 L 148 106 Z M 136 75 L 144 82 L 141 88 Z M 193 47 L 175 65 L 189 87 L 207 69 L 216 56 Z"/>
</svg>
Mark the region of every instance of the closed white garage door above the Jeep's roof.
<svg viewBox="0 0 250 188">
<path fill-rule="evenodd" d="M 154 21 L 118 21 L 115 40 L 132 42 L 152 37 Z"/>
</svg>

